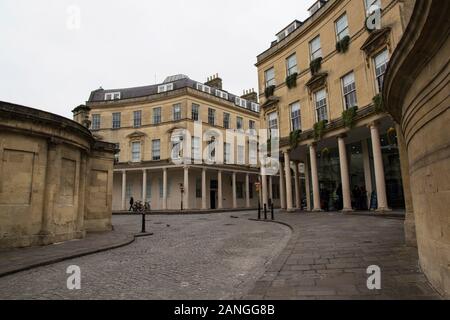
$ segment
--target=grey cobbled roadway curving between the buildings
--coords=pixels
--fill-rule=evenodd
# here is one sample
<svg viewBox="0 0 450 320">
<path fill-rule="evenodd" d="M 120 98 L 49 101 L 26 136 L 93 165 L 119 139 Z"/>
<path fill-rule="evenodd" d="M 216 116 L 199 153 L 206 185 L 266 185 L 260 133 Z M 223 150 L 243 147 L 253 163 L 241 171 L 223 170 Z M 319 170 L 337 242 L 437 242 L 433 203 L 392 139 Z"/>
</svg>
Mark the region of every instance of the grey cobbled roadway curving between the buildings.
<svg viewBox="0 0 450 320">
<path fill-rule="evenodd" d="M 252 215 L 253 216 L 253 215 Z M 0 278 L 0 299 L 236 299 L 248 292 L 292 233 L 248 213 L 148 217 L 154 235 L 133 244 Z M 133 233 L 140 217 L 114 216 Z M 70 265 L 81 290 L 66 287 Z"/>
</svg>

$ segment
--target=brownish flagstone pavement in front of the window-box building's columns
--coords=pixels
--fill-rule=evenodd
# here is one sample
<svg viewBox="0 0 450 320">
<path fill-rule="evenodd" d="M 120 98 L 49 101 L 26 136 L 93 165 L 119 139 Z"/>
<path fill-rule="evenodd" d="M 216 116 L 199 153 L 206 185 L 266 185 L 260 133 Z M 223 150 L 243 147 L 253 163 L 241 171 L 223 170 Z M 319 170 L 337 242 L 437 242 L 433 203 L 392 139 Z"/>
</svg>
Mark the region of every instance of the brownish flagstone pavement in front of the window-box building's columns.
<svg viewBox="0 0 450 320">
<path fill-rule="evenodd" d="M 245 299 L 440 299 L 404 245 L 403 220 L 340 213 L 276 215 L 294 229 Z M 371 265 L 381 290 L 367 288 Z"/>
</svg>

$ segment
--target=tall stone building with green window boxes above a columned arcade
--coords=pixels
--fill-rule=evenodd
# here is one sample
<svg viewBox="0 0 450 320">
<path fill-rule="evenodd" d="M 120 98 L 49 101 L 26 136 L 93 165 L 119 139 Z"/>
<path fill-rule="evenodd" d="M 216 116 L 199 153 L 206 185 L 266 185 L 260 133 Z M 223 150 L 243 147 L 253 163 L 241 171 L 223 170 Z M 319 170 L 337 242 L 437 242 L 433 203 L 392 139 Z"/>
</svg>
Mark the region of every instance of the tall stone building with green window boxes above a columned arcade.
<svg viewBox="0 0 450 320">
<path fill-rule="evenodd" d="M 402 10 L 396 0 L 318 1 L 258 55 L 261 126 L 278 132 L 284 162 L 262 179 L 263 203 L 280 181 L 287 210 L 405 208 L 404 145 L 380 103 Z"/>
</svg>

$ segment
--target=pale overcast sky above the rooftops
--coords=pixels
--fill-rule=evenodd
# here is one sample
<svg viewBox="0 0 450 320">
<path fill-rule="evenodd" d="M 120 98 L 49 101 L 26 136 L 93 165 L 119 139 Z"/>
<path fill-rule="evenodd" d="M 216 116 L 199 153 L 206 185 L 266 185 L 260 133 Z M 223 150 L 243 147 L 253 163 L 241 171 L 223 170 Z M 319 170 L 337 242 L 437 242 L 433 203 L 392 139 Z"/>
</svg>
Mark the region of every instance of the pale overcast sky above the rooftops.
<svg viewBox="0 0 450 320">
<path fill-rule="evenodd" d="M 219 73 L 241 94 L 257 87 L 256 55 L 313 2 L 0 0 L 0 100 L 71 118 L 100 86 L 178 73 L 202 82 Z"/>
</svg>

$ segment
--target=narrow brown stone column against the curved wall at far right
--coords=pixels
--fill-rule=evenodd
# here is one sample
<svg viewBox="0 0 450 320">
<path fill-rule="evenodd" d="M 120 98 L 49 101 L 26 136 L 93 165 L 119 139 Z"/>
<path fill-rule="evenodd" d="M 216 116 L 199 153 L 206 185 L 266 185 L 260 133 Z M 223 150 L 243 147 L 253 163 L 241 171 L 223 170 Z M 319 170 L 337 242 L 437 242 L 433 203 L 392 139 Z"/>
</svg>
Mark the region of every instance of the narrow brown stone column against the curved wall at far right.
<svg viewBox="0 0 450 320">
<path fill-rule="evenodd" d="M 411 193 L 411 177 L 409 175 L 409 159 L 406 149 L 405 137 L 401 127 L 396 124 L 398 150 L 400 153 L 400 166 L 402 171 L 403 194 L 405 195 L 405 241 L 410 247 L 417 247 L 416 222 L 414 217 L 413 199 Z"/>
</svg>

